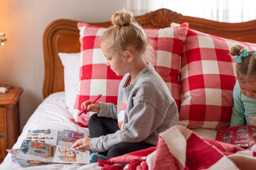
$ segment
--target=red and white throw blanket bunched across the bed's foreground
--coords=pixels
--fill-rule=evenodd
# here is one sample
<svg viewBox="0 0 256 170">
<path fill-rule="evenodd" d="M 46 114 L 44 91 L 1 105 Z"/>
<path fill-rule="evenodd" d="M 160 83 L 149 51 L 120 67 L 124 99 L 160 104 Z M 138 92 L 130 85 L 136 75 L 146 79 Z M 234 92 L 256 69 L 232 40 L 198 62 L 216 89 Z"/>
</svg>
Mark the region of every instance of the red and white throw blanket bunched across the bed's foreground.
<svg viewBox="0 0 256 170">
<path fill-rule="evenodd" d="M 99 160 L 102 169 L 256 169 L 256 146 L 244 149 L 202 139 L 174 126 L 159 134 L 156 147 Z"/>
</svg>

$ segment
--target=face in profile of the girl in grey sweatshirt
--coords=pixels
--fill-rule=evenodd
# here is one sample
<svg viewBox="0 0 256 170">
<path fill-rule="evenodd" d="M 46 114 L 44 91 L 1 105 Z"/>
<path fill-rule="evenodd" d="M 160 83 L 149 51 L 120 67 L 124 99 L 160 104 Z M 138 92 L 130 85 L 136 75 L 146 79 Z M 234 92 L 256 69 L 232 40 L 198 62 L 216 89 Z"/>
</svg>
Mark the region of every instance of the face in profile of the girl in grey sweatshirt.
<svg viewBox="0 0 256 170">
<path fill-rule="evenodd" d="M 113 50 L 106 48 L 104 45 L 102 45 L 102 51 L 107 59 L 107 66 L 110 66 L 116 75 L 121 76 L 128 72 L 125 69 L 127 63 L 123 56 L 118 55 L 118 53 L 113 52 Z"/>
</svg>

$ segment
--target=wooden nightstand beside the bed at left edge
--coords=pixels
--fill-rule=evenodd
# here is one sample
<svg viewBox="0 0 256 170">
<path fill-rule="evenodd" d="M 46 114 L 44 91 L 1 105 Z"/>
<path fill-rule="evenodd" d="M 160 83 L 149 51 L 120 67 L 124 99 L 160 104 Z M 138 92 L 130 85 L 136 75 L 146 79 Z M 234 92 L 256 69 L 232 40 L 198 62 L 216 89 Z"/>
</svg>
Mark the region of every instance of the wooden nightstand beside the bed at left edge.
<svg viewBox="0 0 256 170">
<path fill-rule="evenodd" d="M 19 137 L 19 97 L 23 89 L 13 87 L 0 93 L 0 163 Z"/>
</svg>

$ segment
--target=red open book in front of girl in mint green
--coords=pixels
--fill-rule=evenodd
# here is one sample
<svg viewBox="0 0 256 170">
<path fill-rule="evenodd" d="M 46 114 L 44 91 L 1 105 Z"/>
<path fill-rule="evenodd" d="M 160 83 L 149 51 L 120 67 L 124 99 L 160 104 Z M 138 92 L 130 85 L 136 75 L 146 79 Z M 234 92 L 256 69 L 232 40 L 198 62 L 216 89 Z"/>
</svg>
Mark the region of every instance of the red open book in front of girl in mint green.
<svg viewBox="0 0 256 170">
<path fill-rule="evenodd" d="M 216 141 L 248 148 L 256 143 L 256 126 L 240 125 L 218 130 Z"/>
</svg>

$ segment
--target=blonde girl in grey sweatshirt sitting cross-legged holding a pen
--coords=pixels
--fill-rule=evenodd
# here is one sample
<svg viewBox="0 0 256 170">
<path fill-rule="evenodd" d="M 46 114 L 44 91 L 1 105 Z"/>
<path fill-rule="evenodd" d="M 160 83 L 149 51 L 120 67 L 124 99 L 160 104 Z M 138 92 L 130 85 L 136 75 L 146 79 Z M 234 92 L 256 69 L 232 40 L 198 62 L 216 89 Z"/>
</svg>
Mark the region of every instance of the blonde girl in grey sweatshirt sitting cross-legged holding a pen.
<svg viewBox="0 0 256 170">
<path fill-rule="evenodd" d="M 92 150 L 91 162 L 157 145 L 158 134 L 179 121 L 177 105 L 154 67 L 143 60 L 147 36 L 131 13 L 115 13 L 101 36 L 107 65 L 119 76 L 118 104 L 85 101 L 81 108 L 97 112 L 90 117 L 90 138 L 72 146 Z"/>
</svg>

